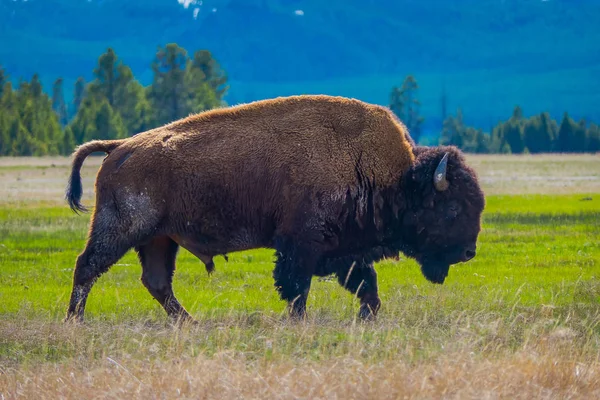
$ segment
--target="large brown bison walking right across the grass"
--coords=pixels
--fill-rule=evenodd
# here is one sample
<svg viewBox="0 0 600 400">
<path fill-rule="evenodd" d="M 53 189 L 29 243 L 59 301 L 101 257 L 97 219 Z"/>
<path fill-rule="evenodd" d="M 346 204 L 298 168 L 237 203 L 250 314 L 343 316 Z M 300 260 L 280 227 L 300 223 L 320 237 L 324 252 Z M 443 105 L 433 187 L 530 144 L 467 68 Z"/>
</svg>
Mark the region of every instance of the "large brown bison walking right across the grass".
<svg viewBox="0 0 600 400">
<path fill-rule="evenodd" d="M 475 256 L 484 195 L 454 147 L 416 146 L 388 109 L 303 95 L 214 109 L 73 155 L 66 198 L 80 203 L 80 169 L 107 156 L 96 178 L 87 243 L 77 257 L 66 320 L 83 320 L 94 282 L 134 248 L 141 281 L 169 316 L 193 321 L 173 294 L 181 246 L 212 258 L 275 250 L 275 287 L 303 317 L 313 276 L 335 274 L 359 316 L 380 309 L 384 257 L 416 259 L 442 284 Z"/>
</svg>

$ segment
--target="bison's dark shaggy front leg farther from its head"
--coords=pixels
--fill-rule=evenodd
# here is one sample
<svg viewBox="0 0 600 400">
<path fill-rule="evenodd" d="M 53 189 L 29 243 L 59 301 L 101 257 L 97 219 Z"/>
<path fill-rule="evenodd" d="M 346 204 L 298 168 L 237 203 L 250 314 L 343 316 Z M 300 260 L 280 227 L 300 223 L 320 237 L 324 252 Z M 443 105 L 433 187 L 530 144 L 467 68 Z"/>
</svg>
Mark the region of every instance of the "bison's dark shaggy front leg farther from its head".
<svg viewBox="0 0 600 400">
<path fill-rule="evenodd" d="M 289 304 L 290 316 L 303 319 L 306 316 L 306 299 L 315 271 L 318 255 L 314 248 L 289 240 L 277 246 L 277 261 L 273 278 L 280 297 Z"/>
</svg>

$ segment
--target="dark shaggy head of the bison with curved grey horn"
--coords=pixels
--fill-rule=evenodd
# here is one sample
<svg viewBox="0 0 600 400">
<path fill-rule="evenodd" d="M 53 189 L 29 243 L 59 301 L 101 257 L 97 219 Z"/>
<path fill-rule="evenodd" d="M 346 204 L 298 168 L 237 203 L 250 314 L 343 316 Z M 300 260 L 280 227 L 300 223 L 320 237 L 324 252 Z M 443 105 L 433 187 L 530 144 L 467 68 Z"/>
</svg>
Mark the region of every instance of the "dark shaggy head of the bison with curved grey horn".
<svg viewBox="0 0 600 400">
<path fill-rule="evenodd" d="M 450 265 L 475 257 L 485 199 L 457 148 L 417 146 L 414 154 L 402 182 L 401 250 L 442 284 Z"/>
</svg>

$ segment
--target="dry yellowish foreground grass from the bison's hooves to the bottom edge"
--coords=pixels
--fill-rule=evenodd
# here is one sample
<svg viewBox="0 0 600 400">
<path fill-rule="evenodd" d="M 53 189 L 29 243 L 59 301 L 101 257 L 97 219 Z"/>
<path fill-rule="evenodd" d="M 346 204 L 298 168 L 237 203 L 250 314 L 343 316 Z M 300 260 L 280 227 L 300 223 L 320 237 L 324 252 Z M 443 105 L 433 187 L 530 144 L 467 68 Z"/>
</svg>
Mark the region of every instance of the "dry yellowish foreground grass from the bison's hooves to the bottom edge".
<svg viewBox="0 0 600 400">
<path fill-rule="evenodd" d="M 498 326 L 510 321 L 488 321 Z M 552 323 L 551 320 L 546 322 Z M 345 355 L 323 360 L 299 354 L 279 354 L 285 331 L 299 337 L 318 337 L 322 322 L 292 325 L 273 320 L 245 321 L 264 325 L 264 350 L 233 346 L 194 354 L 211 323 L 181 329 L 144 323 L 84 327 L 36 322 L 9 323 L 8 336 L 31 343 L 68 343 L 73 357 L 50 363 L 0 367 L 0 396 L 20 398 L 273 398 L 273 399 L 592 399 L 600 396 L 600 359 L 569 328 L 531 334 L 517 348 L 502 337 L 481 337 L 465 321 L 449 330 L 455 340 L 447 348 L 409 337 L 382 342 L 381 360 L 365 352 L 362 336 L 390 326 L 353 326 L 345 331 L 352 342 Z M 518 321 L 513 321 L 518 323 Z M 596 321 L 596 324 L 598 321 Z M 220 321 L 221 330 L 237 329 L 244 321 Z M 504 328 L 506 328 L 504 327 Z M 502 329 L 502 327 L 500 327 Z M 12 338 L 14 339 L 14 338 Z M 9 339 L 10 340 L 10 339 Z M 485 342 L 482 346 L 481 342 Z M 437 342 L 434 340 L 434 342 Z M 440 340 L 439 343 L 444 343 Z M 438 344 L 439 344 L 438 343 Z M 597 346 L 594 344 L 593 346 Z M 137 349 L 136 349 L 137 347 Z M 30 348 L 31 349 L 31 348 Z M 327 353 L 327 350 L 325 350 Z M 318 358 L 318 357 L 317 357 Z"/>
</svg>

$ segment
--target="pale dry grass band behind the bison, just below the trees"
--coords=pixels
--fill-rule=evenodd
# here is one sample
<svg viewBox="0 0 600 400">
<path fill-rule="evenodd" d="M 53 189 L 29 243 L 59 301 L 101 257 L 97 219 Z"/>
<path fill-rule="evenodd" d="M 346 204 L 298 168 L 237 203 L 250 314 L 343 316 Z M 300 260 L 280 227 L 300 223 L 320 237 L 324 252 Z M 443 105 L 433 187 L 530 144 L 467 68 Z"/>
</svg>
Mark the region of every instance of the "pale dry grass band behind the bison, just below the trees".
<svg viewBox="0 0 600 400">
<path fill-rule="evenodd" d="M 600 192 L 600 154 L 468 155 L 487 195 Z M 84 203 L 94 198 L 102 157 L 83 170 Z M 68 157 L 0 157 L 0 203 L 64 204 Z"/>
</svg>

